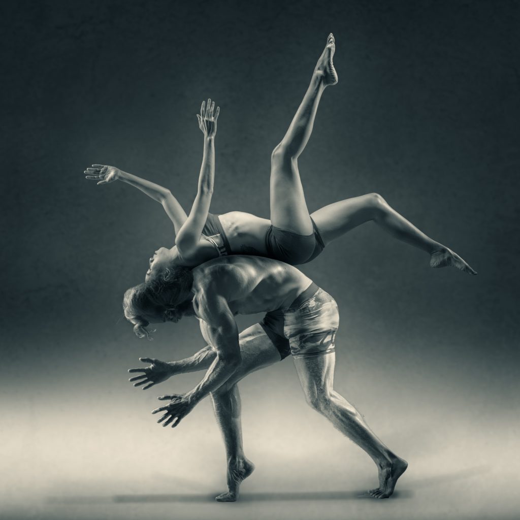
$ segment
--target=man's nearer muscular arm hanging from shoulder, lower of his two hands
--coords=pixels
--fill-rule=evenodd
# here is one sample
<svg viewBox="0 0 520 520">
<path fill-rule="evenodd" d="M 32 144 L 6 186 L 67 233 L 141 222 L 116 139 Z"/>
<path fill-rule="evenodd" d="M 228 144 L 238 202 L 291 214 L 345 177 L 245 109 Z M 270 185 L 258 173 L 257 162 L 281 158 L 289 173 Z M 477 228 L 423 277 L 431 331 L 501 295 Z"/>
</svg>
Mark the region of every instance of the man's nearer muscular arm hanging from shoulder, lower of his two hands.
<svg viewBox="0 0 520 520">
<path fill-rule="evenodd" d="M 216 287 L 206 287 L 196 295 L 194 307 L 197 315 L 207 324 L 206 332 L 216 351 L 216 359 L 206 372 L 204 379 L 185 395 L 163 396 L 161 400 L 171 400 L 170 404 L 156 408 L 152 413 L 164 411 L 158 420 L 175 427 L 204 397 L 223 385 L 240 365 L 240 345 L 238 327 L 229 309 L 226 298 Z"/>
</svg>

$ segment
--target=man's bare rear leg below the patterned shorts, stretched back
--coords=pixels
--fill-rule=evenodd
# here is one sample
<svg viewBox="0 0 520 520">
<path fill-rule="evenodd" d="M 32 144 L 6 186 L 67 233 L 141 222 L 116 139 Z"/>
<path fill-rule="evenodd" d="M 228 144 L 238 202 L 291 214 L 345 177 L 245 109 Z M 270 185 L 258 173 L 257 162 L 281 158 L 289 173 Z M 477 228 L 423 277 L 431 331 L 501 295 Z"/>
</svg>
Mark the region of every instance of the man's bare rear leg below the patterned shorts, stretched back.
<svg viewBox="0 0 520 520">
<path fill-rule="evenodd" d="M 374 498 L 388 498 L 408 464 L 390 451 L 370 430 L 356 408 L 334 391 L 334 363 L 334 352 L 294 358 L 308 404 L 369 454 L 379 472 L 379 488 L 372 489 L 370 494 Z"/>
</svg>

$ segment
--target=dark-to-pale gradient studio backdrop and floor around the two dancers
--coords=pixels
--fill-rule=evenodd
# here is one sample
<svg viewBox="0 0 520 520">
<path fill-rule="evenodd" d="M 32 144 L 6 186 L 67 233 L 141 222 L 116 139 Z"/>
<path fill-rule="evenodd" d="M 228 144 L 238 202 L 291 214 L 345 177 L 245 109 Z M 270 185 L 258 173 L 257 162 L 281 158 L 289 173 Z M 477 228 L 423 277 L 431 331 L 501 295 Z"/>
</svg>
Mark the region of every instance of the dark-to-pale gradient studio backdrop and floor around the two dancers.
<svg viewBox="0 0 520 520">
<path fill-rule="evenodd" d="M 508 518 L 518 498 L 517 2 L 11 2 L 2 7 L 1 515 Z M 309 209 L 376 191 L 479 272 L 432 270 L 372 223 L 303 271 L 340 307 L 336 387 L 409 463 L 375 466 L 307 407 L 291 359 L 240 385 L 243 500 L 209 400 L 176 430 L 126 369 L 202 345 L 186 319 L 138 340 L 126 288 L 171 246 L 161 206 L 106 163 L 196 193 L 203 99 L 220 106 L 214 213 L 269 214 L 269 158 L 329 32 L 340 82 L 300 159 Z M 245 327 L 256 317 L 241 317 Z M 305 494 L 308 492 L 308 494 Z M 190 495 L 192 493 L 193 495 Z M 300 494 L 298 494 L 300 493 Z M 303 494 L 302 494 L 303 493 Z"/>
</svg>

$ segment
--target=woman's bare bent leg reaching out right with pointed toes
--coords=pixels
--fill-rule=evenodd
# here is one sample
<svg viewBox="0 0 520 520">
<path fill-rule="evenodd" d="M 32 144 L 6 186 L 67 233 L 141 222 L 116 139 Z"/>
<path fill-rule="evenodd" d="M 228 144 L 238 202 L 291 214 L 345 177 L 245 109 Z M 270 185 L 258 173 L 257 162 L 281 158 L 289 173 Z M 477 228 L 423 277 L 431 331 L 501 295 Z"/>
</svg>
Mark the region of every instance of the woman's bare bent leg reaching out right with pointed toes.
<svg viewBox="0 0 520 520">
<path fill-rule="evenodd" d="M 373 220 L 393 237 L 429 253 L 432 267 L 453 266 L 469 274 L 477 274 L 459 255 L 432 240 L 397 213 L 378 193 L 329 204 L 315 211 L 311 217 L 325 245 L 360 224 Z"/>
</svg>

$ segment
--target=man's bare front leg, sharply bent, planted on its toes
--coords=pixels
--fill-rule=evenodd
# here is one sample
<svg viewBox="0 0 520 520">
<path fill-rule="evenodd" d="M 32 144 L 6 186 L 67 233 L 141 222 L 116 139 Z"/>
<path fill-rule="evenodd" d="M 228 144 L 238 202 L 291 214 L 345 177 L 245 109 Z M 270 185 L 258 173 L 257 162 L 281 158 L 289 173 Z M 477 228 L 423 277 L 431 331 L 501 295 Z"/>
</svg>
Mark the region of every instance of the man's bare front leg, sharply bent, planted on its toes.
<svg viewBox="0 0 520 520">
<path fill-rule="evenodd" d="M 246 459 L 242 445 L 241 404 L 237 383 L 246 375 L 280 361 L 280 353 L 259 324 L 243 331 L 240 336 L 242 363 L 224 385 L 212 392 L 213 409 L 224 437 L 227 457 L 228 491 L 218 495 L 219 502 L 234 502 L 240 484 L 251 475 L 254 464 Z"/>
</svg>

